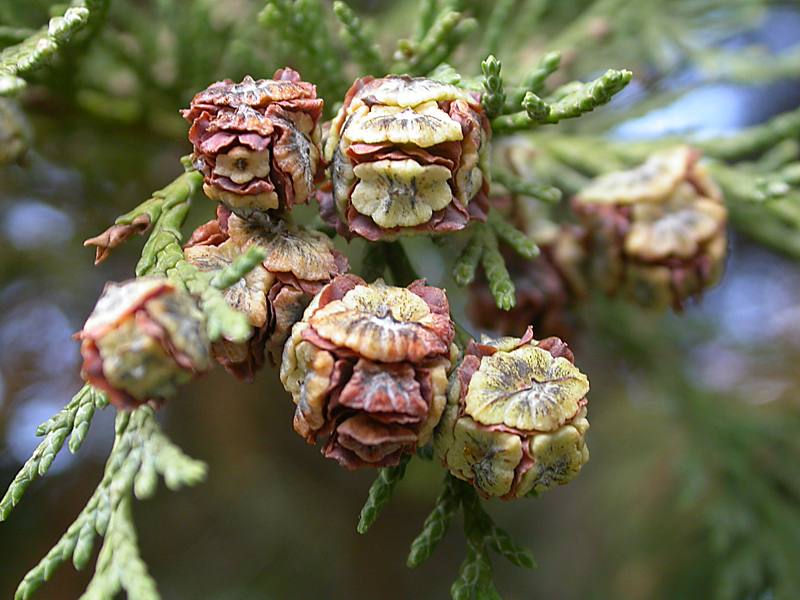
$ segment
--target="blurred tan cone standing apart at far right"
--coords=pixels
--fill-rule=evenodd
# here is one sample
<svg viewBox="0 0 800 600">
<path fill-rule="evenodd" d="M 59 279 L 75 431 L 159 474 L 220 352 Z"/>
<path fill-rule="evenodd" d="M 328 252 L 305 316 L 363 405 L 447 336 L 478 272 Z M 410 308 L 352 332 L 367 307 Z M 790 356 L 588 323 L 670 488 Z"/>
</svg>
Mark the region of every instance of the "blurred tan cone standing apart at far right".
<svg viewBox="0 0 800 600">
<path fill-rule="evenodd" d="M 596 284 L 643 306 L 681 308 L 719 279 L 727 211 L 698 158 L 687 146 L 660 152 L 575 198 Z"/>
</svg>

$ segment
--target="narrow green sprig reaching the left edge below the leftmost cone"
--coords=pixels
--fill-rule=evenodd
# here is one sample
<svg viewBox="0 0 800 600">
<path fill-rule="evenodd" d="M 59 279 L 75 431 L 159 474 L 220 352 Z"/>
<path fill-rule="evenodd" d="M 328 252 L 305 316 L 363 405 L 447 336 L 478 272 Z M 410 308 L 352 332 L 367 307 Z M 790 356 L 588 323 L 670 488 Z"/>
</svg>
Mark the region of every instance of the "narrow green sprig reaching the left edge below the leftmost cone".
<svg viewBox="0 0 800 600">
<path fill-rule="evenodd" d="M 0 500 L 0 521 L 5 521 L 19 504 L 28 487 L 47 474 L 56 455 L 69 437 L 70 452 L 77 452 L 86 438 L 96 408 L 104 408 L 108 400 L 102 392 L 84 385 L 56 415 L 39 425 L 36 435 L 44 436 L 31 457 L 17 473 Z"/>
</svg>

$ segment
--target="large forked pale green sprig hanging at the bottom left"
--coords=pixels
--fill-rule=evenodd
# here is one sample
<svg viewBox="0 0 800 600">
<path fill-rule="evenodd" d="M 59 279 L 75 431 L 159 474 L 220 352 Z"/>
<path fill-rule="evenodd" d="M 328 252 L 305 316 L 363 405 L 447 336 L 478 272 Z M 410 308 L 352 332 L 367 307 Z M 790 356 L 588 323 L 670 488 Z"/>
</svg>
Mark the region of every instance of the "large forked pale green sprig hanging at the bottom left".
<svg viewBox="0 0 800 600">
<path fill-rule="evenodd" d="M 139 556 L 130 513 L 134 489 L 139 498 L 155 492 L 155 485 L 137 485 L 146 464 L 153 465 L 172 489 L 202 481 L 206 467 L 163 434 L 149 406 L 117 413 L 115 430 L 100 484 L 58 543 L 22 580 L 15 600 L 30 598 L 70 558 L 76 569 L 85 568 L 97 536 L 104 542 L 83 598 L 112 598 L 123 590 L 131 598 L 158 598 L 155 582 Z"/>
</svg>

